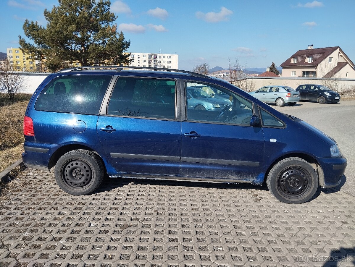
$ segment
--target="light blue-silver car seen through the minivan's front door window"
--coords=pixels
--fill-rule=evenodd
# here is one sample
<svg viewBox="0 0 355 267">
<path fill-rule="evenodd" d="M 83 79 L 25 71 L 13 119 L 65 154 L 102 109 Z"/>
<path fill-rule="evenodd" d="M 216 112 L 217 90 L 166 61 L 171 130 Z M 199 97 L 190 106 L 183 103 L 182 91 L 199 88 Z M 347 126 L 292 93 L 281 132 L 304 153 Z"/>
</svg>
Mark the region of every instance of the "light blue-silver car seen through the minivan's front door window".
<svg viewBox="0 0 355 267">
<path fill-rule="evenodd" d="M 188 86 L 186 89 L 188 109 L 223 110 L 229 106 L 226 101 L 211 97 L 197 86 Z"/>
</svg>

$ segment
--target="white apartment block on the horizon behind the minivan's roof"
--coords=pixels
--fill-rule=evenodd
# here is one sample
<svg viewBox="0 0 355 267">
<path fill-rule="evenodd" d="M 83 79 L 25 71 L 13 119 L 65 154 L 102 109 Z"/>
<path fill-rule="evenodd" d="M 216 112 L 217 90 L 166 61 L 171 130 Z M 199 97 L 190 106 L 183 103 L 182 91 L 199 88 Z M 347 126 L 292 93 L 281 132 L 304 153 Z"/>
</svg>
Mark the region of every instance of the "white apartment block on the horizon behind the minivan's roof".
<svg viewBox="0 0 355 267">
<path fill-rule="evenodd" d="M 133 59 L 133 61 L 130 66 L 178 69 L 179 55 L 131 53 L 131 59 Z"/>
</svg>

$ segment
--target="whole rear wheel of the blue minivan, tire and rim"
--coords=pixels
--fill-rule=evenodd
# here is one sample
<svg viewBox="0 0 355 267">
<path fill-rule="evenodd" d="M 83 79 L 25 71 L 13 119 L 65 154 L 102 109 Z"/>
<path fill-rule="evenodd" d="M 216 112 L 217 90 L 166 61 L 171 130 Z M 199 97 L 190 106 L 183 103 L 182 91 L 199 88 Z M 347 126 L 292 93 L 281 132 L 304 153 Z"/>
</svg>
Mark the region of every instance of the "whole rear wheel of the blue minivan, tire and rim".
<svg viewBox="0 0 355 267">
<path fill-rule="evenodd" d="M 55 165 L 55 180 L 71 195 L 88 195 L 95 191 L 104 177 L 104 166 L 98 156 L 84 149 L 72 150 Z"/>
</svg>

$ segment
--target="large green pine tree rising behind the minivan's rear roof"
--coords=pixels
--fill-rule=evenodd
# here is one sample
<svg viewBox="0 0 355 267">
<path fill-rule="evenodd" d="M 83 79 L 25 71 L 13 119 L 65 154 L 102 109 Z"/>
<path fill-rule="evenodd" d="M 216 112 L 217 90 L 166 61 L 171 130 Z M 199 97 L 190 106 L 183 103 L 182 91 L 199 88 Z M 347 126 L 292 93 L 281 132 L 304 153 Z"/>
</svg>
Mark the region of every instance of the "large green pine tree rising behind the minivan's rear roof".
<svg viewBox="0 0 355 267">
<path fill-rule="evenodd" d="M 119 65 L 131 62 L 126 53 L 130 40 L 117 32 L 116 16 L 109 0 L 59 0 L 51 11 L 45 9 L 47 26 L 26 20 L 20 48 L 38 60 L 46 58 L 51 71 L 79 62 L 82 66 Z"/>
</svg>

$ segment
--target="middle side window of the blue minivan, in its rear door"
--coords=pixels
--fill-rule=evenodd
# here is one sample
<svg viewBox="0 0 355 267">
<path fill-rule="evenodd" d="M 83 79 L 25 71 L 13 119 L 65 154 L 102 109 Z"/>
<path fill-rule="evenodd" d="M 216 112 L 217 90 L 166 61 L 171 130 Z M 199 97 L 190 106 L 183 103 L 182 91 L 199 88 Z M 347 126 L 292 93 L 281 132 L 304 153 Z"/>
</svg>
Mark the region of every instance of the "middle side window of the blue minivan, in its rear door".
<svg viewBox="0 0 355 267">
<path fill-rule="evenodd" d="M 119 77 L 111 93 L 107 114 L 175 119 L 175 80 Z"/>
</svg>

